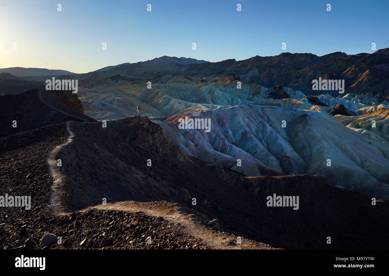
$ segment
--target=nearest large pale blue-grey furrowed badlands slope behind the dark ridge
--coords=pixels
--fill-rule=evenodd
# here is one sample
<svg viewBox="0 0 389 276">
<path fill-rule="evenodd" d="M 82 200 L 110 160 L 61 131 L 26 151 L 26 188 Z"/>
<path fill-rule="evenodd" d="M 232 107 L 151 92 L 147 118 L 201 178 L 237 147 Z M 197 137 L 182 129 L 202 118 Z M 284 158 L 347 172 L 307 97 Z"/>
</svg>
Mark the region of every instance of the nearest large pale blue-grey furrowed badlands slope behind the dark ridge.
<svg viewBox="0 0 389 276">
<path fill-rule="evenodd" d="M 211 131 L 179 129 L 183 116 L 210 118 Z M 317 174 L 334 186 L 389 198 L 389 143 L 324 112 L 249 104 L 152 120 L 186 154 L 247 176 Z"/>
</svg>

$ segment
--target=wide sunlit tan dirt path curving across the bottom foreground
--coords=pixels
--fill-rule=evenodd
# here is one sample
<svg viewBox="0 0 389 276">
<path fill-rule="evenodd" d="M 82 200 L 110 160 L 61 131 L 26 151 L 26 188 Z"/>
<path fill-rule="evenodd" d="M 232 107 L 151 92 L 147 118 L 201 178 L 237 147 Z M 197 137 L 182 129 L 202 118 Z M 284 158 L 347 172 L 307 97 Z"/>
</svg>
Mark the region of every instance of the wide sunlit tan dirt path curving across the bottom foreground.
<svg viewBox="0 0 389 276">
<path fill-rule="evenodd" d="M 194 236 L 212 249 L 277 249 L 265 243 L 259 243 L 244 237 L 241 237 L 242 242 L 238 244 L 237 236 L 205 226 L 201 218 L 195 214 L 188 214 L 184 210 L 186 209 L 185 207 L 171 202 L 123 201 L 107 205 L 96 205 L 83 211 L 90 209 L 144 212 L 148 216 L 163 217 L 169 223 L 179 225 L 182 231 Z"/>
</svg>

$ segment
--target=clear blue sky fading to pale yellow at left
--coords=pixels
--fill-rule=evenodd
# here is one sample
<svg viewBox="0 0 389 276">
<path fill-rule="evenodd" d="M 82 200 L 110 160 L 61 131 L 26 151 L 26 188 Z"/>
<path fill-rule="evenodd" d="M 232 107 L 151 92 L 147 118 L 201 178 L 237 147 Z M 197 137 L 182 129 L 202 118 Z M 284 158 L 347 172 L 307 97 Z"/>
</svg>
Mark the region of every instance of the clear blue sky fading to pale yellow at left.
<svg viewBox="0 0 389 276">
<path fill-rule="evenodd" d="M 84 73 L 163 55 L 372 53 L 371 43 L 389 47 L 388 12 L 389 0 L 0 0 L 0 68 Z"/>
</svg>

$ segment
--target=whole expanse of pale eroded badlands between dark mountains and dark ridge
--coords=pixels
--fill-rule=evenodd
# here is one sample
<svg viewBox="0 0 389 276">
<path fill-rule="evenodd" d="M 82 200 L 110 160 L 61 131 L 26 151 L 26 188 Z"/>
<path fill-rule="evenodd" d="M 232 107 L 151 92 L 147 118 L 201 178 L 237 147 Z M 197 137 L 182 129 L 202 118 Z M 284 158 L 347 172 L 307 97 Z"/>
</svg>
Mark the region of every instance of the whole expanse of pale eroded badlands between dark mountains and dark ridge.
<svg viewBox="0 0 389 276">
<path fill-rule="evenodd" d="M 210 164 L 247 176 L 318 174 L 334 186 L 389 199 L 387 115 L 366 114 L 387 110 L 386 100 L 350 93 L 307 97 L 291 88 L 244 82 L 238 89 L 234 76 L 93 79 L 83 81 L 79 99 L 96 120 L 135 115 L 140 105 L 141 115 L 159 124 L 168 140 Z M 179 129 L 185 116 L 210 119 L 210 132 Z"/>
</svg>

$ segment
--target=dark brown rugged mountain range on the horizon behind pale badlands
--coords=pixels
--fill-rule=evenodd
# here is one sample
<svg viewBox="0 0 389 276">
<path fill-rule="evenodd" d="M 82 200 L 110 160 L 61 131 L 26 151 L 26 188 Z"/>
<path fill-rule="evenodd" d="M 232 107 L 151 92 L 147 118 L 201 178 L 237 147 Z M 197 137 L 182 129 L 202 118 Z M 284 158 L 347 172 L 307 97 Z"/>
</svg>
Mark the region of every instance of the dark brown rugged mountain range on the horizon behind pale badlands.
<svg viewBox="0 0 389 276">
<path fill-rule="evenodd" d="M 147 79 L 156 76 L 184 76 L 191 79 L 216 79 L 233 76 L 246 83 L 256 83 L 264 87 L 277 85 L 301 91 L 305 95 L 320 95 L 322 91 L 312 90 L 312 80 L 344 79 L 345 92 L 367 94 L 388 98 L 389 94 L 389 48 L 374 53 L 347 55 L 342 52 L 317 56 L 312 53 L 280 53 L 271 57 L 251 57 L 220 62 L 159 57 L 137 63 L 108 66 L 87 74 L 77 74 L 86 79 L 98 74 L 100 78 L 120 75 L 131 79 Z M 94 78 L 95 78 L 94 77 Z M 328 91 L 333 96 L 338 91 Z"/>
</svg>

